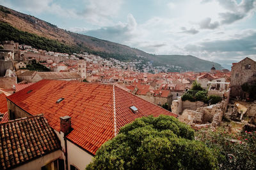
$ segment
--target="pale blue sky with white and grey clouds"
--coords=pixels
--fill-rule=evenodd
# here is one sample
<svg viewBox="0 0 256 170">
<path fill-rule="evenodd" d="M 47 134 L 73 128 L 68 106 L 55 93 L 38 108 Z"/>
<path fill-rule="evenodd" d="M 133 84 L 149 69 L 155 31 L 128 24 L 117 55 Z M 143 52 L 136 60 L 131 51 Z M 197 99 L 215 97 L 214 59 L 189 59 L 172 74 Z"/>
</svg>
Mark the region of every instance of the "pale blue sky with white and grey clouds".
<svg viewBox="0 0 256 170">
<path fill-rule="evenodd" d="M 256 0 L 0 0 L 68 31 L 230 69 L 256 60 Z"/>
</svg>

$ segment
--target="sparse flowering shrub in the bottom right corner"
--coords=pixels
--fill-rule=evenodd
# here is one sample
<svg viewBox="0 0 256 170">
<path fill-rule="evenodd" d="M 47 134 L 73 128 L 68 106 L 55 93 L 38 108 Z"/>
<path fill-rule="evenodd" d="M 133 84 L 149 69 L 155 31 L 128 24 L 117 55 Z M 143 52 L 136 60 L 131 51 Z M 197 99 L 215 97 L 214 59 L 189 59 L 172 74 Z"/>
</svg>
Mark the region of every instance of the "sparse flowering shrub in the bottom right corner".
<svg viewBox="0 0 256 170">
<path fill-rule="evenodd" d="M 212 148 L 219 169 L 256 169 L 256 132 L 231 134 L 221 128 L 203 129 L 196 138 Z"/>
</svg>

